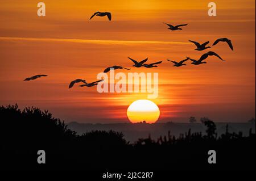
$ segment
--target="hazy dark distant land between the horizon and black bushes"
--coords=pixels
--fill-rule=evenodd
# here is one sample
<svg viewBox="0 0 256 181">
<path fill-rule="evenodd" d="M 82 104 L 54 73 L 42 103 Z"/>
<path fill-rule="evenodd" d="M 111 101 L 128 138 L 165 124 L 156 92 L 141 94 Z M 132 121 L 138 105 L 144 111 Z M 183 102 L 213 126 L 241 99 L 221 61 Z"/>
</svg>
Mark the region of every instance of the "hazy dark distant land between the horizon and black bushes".
<svg viewBox="0 0 256 181">
<path fill-rule="evenodd" d="M 188 120 L 189 121 L 189 120 Z M 98 131 L 115 131 L 122 132 L 124 134 L 124 138 L 131 143 L 134 143 L 139 138 L 147 138 L 149 135 L 153 140 L 157 140 L 160 136 L 166 135 L 169 131 L 172 136 L 179 137 L 181 133 L 187 132 L 191 129 L 191 133 L 201 132 L 204 136 L 206 133 L 207 127 L 201 122 L 197 123 L 175 123 L 172 121 L 166 123 L 109 123 L 109 124 L 101 124 L 101 123 L 77 123 L 71 122 L 66 123 L 68 125 L 67 128 L 75 131 L 77 134 L 81 135 L 86 132 L 92 132 L 95 130 Z M 243 136 L 249 136 L 250 129 L 252 133 L 255 133 L 255 124 L 252 123 L 215 123 L 216 124 L 216 132 L 217 137 L 220 137 L 221 134 L 226 132 L 226 125 L 228 124 L 229 132 L 239 133 L 242 132 Z"/>
</svg>

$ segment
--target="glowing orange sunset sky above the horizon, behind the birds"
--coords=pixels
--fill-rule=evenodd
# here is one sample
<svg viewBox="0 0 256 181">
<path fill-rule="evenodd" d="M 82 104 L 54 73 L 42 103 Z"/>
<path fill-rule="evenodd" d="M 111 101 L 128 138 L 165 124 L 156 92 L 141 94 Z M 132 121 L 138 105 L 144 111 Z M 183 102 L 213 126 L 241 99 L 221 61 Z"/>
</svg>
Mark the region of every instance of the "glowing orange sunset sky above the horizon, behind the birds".
<svg viewBox="0 0 256 181">
<path fill-rule="evenodd" d="M 124 123 L 127 107 L 141 93 L 99 94 L 96 87 L 68 89 L 69 82 L 96 75 L 108 66 L 131 72 L 158 72 L 159 96 L 151 99 L 160 109 L 160 122 L 209 117 L 214 121 L 242 122 L 255 117 L 255 1 L 214 1 L 217 16 L 208 16 L 211 1 L 87 1 L 42 0 L 46 16 L 37 15 L 33 0 L 1 0 L 0 104 L 18 103 L 49 110 L 67 122 Z M 95 16 L 112 12 L 112 21 Z M 169 31 L 163 22 L 184 24 Z M 228 37 L 209 49 L 225 62 L 209 57 L 208 64 L 176 68 L 180 61 L 201 54 L 188 40 L 210 41 Z M 148 62 L 163 60 L 158 68 L 133 68 L 127 56 Z M 129 71 L 116 70 L 116 72 Z M 46 78 L 23 82 L 36 74 Z"/>
</svg>

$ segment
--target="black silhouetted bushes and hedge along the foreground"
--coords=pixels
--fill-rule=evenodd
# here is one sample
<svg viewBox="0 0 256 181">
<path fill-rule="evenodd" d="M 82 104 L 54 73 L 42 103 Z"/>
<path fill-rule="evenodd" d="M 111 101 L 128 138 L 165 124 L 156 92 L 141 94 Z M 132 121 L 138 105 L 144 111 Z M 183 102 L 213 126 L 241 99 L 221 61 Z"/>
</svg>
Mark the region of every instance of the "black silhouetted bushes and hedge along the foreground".
<svg viewBox="0 0 256 181">
<path fill-rule="evenodd" d="M 255 169 L 255 134 L 226 133 L 217 136 L 216 125 L 205 119 L 207 134 L 139 139 L 130 144 L 123 134 L 92 131 L 81 136 L 48 111 L 0 107 L 1 169 L 89 170 L 212 170 Z M 37 162 L 38 150 L 46 151 L 46 164 Z M 208 163 L 215 150 L 217 164 Z"/>
</svg>

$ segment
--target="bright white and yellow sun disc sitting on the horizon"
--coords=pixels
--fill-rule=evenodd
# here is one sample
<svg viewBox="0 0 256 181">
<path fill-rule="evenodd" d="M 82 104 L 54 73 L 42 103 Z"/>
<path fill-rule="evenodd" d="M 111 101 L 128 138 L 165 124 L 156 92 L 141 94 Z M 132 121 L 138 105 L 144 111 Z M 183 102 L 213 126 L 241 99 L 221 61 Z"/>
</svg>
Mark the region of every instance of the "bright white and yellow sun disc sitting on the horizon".
<svg viewBox="0 0 256 181">
<path fill-rule="evenodd" d="M 159 115 L 158 106 L 150 100 L 135 100 L 127 109 L 127 117 L 131 123 L 155 123 Z"/>
</svg>

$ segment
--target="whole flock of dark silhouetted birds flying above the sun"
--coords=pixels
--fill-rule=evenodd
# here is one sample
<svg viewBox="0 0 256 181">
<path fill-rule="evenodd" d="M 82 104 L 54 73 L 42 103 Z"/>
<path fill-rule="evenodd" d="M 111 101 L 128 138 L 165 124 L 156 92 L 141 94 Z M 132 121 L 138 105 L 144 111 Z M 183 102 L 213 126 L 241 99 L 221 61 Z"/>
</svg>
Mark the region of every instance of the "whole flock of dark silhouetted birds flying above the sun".
<svg viewBox="0 0 256 181">
<path fill-rule="evenodd" d="M 112 14 L 110 12 L 95 12 L 91 17 L 90 19 L 92 19 L 94 16 L 107 16 L 108 19 L 111 21 L 112 19 Z M 164 23 L 166 24 L 169 28 L 168 30 L 171 30 L 171 31 L 176 31 L 176 30 L 182 30 L 182 28 L 180 27 L 183 27 L 183 26 L 187 26 L 188 24 L 179 24 L 179 25 L 176 25 L 176 26 L 172 26 L 171 24 L 167 24 L 167 23 Z M 205 49 L 208 49 L 208 48 L 211 48 L 211 47 L 206 47 L 210 42 L 207 41 L 203 44 L 200 44 L 196 41 L 192 41 L 192 40 L 189 40 L 191 43 L 195 44 L 196 45 L 196 49 L 195 50 L 198 50 L 198 51 L 202 51 L 202 50 L 205 50 Z M 232 41 L 227 39 L 226 37 L 225 38 L 220 38 L 220 39 L 217 39 L 216 41 L 214 41 L 213 45 L 216 45 L 218 44 L 220 41 L 223 41 L 223 42 L 226 42 L 230 49 L 233 50 L 233 45 L 232 45 Z M 206 64 L 207 62 L 204 61 L 205 59 L 208 58 L 208 56 L 216 56 L 218 57 L 220 60 L 224 61 L 217 53 L 215 52 L 212 52 L 212 51 L 209 51 L 207 53 L 204 53 L 200 58 L 199 60 L 194 60 L 192 58 L 189 58 L 189 57 L 186 57 L 184 60 L 181 60 L 179 62 L 176 62 L 176 61 L 172 61 L 172 60 L 168 60 L 167 61 L 170 61 L 172 62 L 174 65 L 173 66 L 176 66 L 176 67 L 179 67 L 179 66 L 184 66 L 186 64 L 184 64 L 185 61 L 192 61 L 191 64 L 193 65 L 200 65 L 200 64 Z M 142 61 L 136 61 L 134 60 L 133 58 L 130 58 L 128 57 L 131 61 L 133 61 L 134 63 L 134 67 L 135 68 L 141 68 L 141 67 L 144 67 L 144 68 L 155 68 L 155 67 L 158 67 L 157 65 L 158 64 L 161 64 L 162 61 L 158 61 L 158 62 L 154 62 L 154 63 L 151 63 L 151 64 L 145 64 L 145 62 L 147 62 L 148 58 L 142 60 Z M 126 69 L 126 70 L 130 70 L 129 68 L 124 68 L 123 66 L 119 66 L 119 65 L 114 65 L 114 66 L 110 66 L 108 68 L 106 68 L 104 70 L 104 73 L 108 73 L 111 69 Z M 31 81 L 31 80 L 34 80 L 34 79 L 37 79 L 37 78 L 40 78 L 40 77 L 46 77 L 47 75 L 44 75 L 44 74 L 39 74 L 39 75 L 34 75 L 32 77 L 28 77 L 26 79 L 24 79 L 24 81 Z M 98 85 L 98 82 L 101 82 L 101 81 L 104 81 L 104 79 L 101 79 L 100 81 L 95 81 L 95 82 L 91 82 L 91 83 L 87 83 L 84 79 L 75 79 L 73 80 L 71 83 L 69 83 L 69 89 L 72 88 L 76 83 L 83 83 L 82 85 L 80 85 L 80 87 L 92 87 L 92 86 L 96 86 Z"/>
</svg>

